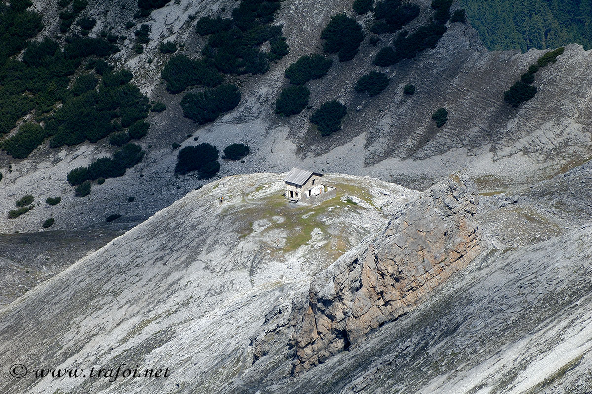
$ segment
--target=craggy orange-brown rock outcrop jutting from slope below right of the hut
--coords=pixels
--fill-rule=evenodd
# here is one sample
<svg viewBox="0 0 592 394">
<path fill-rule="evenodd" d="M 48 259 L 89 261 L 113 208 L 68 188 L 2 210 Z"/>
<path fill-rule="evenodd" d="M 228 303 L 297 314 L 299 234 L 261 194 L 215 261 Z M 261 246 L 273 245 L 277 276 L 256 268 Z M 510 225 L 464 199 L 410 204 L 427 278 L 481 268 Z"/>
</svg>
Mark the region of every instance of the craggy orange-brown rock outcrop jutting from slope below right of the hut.
<svg viewBox="0 0 592 394">
<path fill-rule="evenodd" d="M 476 209 L 474 185 L 453 176 L 317 276 L 307 299 L 283 323 L 290 327 L 292 373 L 361 344 L 366 334 L 417 306 L 466 267 L 480 250 Z M 255 338 L 255 358 L 268 353 L 268 338 L 275 338 L 269 334 L 282 325 L 268 320 L 274 328 Z"/>
</svg>

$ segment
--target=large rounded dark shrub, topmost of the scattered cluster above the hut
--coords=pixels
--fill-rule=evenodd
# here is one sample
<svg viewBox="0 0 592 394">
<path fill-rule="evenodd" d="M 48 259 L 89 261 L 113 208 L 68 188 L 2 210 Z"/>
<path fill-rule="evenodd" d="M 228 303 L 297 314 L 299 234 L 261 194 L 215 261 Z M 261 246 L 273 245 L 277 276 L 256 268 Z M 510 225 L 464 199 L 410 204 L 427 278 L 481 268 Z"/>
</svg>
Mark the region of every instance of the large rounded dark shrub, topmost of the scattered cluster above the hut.
<svg viewBox="0 0 592 394">
<path fill-rule="evenodd" d="M 340 62 L 352 60 L 358 47 L 362 43 L 364 35 L 362 27 L 345 14 L 335 15 L 321 32 L 321 40 L 325 40 L 324 51 L 337 53 Z"/>
</svg>

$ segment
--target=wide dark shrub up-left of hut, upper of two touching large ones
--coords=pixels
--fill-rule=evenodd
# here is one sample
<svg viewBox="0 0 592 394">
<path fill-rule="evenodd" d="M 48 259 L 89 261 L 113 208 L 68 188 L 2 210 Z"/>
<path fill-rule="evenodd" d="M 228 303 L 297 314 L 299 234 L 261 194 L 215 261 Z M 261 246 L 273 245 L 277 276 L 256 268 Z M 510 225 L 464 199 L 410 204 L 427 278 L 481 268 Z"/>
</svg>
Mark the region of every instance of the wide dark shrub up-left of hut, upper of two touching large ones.
<svg viewBox="0 0 592 394">
<path fill-rule="evenodd" d="M 166 89 L 172 94 L 184 91 L 194 85 L 215 87 L 224 78 L 211 63 L 204 60 L 192 60 L 183 55 L 170 58 L 160 74 L 166 81 Z"/>
</svg>

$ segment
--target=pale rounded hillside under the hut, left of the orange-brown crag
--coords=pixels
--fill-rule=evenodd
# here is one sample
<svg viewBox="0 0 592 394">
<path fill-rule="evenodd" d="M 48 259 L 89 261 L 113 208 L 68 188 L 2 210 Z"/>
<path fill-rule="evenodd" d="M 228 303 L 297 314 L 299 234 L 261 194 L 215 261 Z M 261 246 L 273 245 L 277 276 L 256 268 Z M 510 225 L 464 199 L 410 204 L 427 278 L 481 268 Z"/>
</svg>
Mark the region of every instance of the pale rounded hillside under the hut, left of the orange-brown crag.
<svg viewBox="0 0 592 394">
<path fill-rule="evenodd" d="M 249 337 L 266 311 L 417 194 L 365 178 L 331 175 L 327 182 L 339 189 L 337 197 L 307 207 L 286 203 L 281 175 L 223 178 L 0 312 L 3 362 L 87 371 L 99 364 L 166 364 L 176 370 L 174 379 L 117 385 L 74 379 L 56 386 L 28 375 L 2 379 L 0 391 L 222 390 L 221 382 L 250 364 Z"/>
</svg>

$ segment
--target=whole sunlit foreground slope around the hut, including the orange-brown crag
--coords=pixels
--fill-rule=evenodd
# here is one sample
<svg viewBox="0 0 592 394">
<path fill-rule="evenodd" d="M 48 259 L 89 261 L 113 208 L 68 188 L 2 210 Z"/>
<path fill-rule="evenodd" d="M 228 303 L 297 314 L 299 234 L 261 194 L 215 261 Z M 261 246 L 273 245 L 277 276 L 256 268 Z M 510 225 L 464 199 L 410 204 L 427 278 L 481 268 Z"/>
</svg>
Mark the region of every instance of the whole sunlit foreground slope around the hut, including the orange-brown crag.
<svg viewBox="0 0 592 394">
<path fill-rule="evenodd" d="M 0 310 L 0 360 L 29 370 L 2 392 L 592 387 L 592 227 L 500 249 L 462 178 L 417 193 L 330 175 L 318 207 L 286 204 L 280 180 L 208 184 Z M 169 374 L 115 378 L 122 364 Z"/>
</svg>

